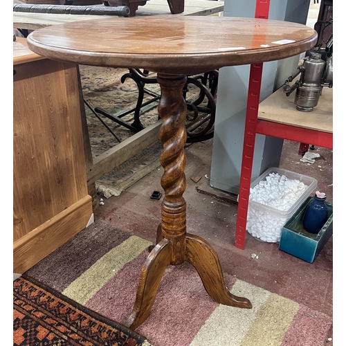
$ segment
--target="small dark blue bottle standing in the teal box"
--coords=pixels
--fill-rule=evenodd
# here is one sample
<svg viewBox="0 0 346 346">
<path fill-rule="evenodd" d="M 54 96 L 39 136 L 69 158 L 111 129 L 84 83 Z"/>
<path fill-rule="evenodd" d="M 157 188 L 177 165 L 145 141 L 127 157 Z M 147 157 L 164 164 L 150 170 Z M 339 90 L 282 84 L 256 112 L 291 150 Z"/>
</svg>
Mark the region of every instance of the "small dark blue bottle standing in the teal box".
<svg viewBox="0 0 346 346">
<path fill-rule="evenodd" d="M 304 230 L 317 234 L 327 221 L 326 196 L 324 193 L 316 192 L 315 196 L 307 206 L 302 220 Z"/>
</svg>

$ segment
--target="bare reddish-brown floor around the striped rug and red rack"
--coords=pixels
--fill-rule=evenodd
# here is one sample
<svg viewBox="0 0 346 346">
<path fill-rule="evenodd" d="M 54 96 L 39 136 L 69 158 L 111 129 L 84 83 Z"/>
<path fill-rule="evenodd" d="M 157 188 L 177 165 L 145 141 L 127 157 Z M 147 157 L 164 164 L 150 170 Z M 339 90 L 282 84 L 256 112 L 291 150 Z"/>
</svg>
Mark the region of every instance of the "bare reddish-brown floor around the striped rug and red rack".
<svg viewBox="0 0 346 346">
<path fill-rule="evenodd" d="M 302 156 L 298 154 L 298 148 L 299 143 L 284 141 L 280 167 L 316 178 L 318 189 L 326 192 L 327 201 L 332 203 L 332 150 L 316 147 L 323 159 L 309 165 L 300 162 Z M 210 242 L 219 255 L 224 272 L 331 316 L 333 236 L 313 264 L 280 251 L 277 244 L 260 242 L 249 234 L 246 234 L 244 250 L 235 248 L 235 196 L 210 188 L 206 178 L 210 174 L 212 140 L 188 146 L 186 154 L 187 187 L 184 198 L 188 233 Z M 97 203 L 95 206 L 95 219 L 102 219 L 116 228 L 155 242 L 163 198 L 158 201 L 150 199 L 150 196 L 154 190 L 163 192 L 160 185 L 162 174 L 163 168 L 159 167 L 120 196 L 103 198 L 104 205 Z M 194 176 L 202 178 L 194 183 L 191 179 Z M 253 253 L 258 255 L 258 259 L 251 257 Z"/>
</svg>

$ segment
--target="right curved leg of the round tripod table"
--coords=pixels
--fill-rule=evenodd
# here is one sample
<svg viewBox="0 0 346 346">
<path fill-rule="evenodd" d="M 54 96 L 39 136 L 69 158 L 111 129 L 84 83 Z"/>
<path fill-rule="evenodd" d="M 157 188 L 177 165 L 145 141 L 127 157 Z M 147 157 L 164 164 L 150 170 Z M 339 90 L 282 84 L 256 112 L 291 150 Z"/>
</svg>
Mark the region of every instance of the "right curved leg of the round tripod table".
<svg viewBox="0 0 346 346">
<path fill-rule="evenodd" d="M 219 257 L 206 240 L 188 233 L 186 235 L 185 260 L 196 268 L 203 282 L 203 286 L 212 300 L 231 307 L 252 308 L 250 300 L 237 297 L 228 292 Z"/>
</svg>

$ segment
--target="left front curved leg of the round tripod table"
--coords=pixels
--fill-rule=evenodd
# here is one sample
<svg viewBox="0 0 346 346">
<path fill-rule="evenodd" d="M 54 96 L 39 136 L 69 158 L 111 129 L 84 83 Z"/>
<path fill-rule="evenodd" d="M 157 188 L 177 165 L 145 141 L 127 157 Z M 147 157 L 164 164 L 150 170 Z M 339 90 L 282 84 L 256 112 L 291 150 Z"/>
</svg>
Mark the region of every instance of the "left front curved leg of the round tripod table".
<svg viewBox="0 0 346 346">
<path fill-rule="evenodd" d="M 136 329 L 149 316 L 162 275 L 170 264 L 170 254 L 170 241 L 163 239 L 154 247 L 147 260 L 145 260 L 140 272 L 134 309 L 127 322 L 125 322 L 125 325 L 130 329 Z"/>
</svg>

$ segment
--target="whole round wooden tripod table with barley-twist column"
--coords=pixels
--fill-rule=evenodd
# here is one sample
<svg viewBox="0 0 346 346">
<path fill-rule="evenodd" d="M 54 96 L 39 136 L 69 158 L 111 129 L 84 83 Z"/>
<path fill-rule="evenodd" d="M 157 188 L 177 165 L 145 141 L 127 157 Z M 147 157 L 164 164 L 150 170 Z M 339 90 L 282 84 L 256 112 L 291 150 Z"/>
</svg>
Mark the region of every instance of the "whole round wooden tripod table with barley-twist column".
<svg viewBox="0 0 346 346">
<path fill-rule="evenodd" d="M 88 21 L 87 29 L 80 22 L 42 28 L 28 36 L 28 46 L 52 60 L 154 71 L 161 86 L 158 114 L 162 125 L 158 137 L 163 144 L 160 162 L 165 197 L 156 246 L 140 273 L 136 302 L 127 325 L 136 329 L 145 321 L 165 269 L 184 261 L 196 268 L 215 302 L 251 308 L 248 299 L 226 289 L 219 257 L 212 246 L 201 237 L 186 233 L 183 86 L 186 75 L 222 66 L 253 64 L 262 73 L 262 62 L 307 51 L 316 43 L 317 33 L 286 21 L 169 15 L 95 19 Z M 251 82 L 260 84 L 260 78 Z M 259 99 L 259 92 L 249 93 L 248 107 L 257 109 Z"/>
</svg>

